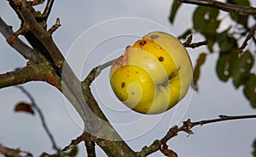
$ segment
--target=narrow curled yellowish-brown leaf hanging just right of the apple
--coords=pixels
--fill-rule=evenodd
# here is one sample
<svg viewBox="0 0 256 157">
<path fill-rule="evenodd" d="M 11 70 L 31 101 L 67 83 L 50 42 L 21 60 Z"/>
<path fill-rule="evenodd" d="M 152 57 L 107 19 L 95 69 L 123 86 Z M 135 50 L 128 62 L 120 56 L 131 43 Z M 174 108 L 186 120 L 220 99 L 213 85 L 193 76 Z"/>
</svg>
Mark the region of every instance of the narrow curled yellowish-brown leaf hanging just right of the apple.
<svg viewBox="0 0 256 157">
<path fill-rule="evenodd" d="M 200 78 L 200 73 L 201 73 L 201 65 L 205 63 L 207 57 L 207 53 L 201 53 L 196 60 L 196 65 L 193 73 L 193 89 L 195 91 L 198 91 L 198 86 L 197 86 L 197 81 Z"/>
</svg>

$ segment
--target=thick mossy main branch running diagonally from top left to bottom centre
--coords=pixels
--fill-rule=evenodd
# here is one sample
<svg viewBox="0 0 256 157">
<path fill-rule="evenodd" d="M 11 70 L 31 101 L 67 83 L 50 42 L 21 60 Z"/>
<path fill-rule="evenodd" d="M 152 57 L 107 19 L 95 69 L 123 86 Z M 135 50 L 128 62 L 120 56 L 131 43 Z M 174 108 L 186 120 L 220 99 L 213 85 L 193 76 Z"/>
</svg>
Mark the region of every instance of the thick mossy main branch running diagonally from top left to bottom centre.
<svg viewBox="0 0 256 157">
<path fill-rule="evenodd" d="M 106 116 L 103 115 L 95 98 L 90 93 L 90 83 L 96 76 L 96 69 L 92 70 L 81 85 L 81 82 L 74 75 L 69 65 L 65 64 L 65 67 L 63 67 L 63 56 L 59 49 L 56 48 L 50 34 L 43 29 L 42 25 L 39 25 L 37 17 L 34 17 L 32 6 L 28 5 L 25 0 L 21 0 L 21 3 L 16 3 L 15 0 L 9 0 L 9 2 L 16 13 L 19 14 L 20 20 L 24 21 L 24 25 L 27 25 L 25 27 L 27 30 L 23 31 L 23 33 L 28 42 L 32 44 L 33 48 L 38 48 L 41 53 L 44 53 L 50 63 L 52 63 L 51 60 L 54 61 L 52 65 L 55 66 L 51 67 L 53 70 L 56 70 L 55 67 L 62 70 L 55 75 L 55 77 L 61 78 L 62 81 L 62 86 L 59 89 L 71 101 L 83 119 L 84 132 L 88 132 L 91 135 L 91 141 L 97 143 L 109 156 L 135 156 L 134 151 L 114 131 L 113 126 L 108 122 Z M 49 56 L 45 54 L 45 51 L 49 53 Z M 65 75 L 61 75 L 63 71 Z M 44 79 L 47 78 L 43 78 L 42 81 Z"/>
</svg>

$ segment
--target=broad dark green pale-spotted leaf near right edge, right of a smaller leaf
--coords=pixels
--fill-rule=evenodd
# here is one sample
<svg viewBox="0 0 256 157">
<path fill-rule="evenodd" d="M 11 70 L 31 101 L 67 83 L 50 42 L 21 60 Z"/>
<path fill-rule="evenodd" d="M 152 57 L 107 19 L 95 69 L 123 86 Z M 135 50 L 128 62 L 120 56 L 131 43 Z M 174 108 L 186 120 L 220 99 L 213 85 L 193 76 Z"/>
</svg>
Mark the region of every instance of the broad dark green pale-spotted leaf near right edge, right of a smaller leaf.
<svg viewBox="0 0 256 157">
<path fill-rule="evenodd" d="M 237 88 L 247 82 L 250 76 L 250 70 L 253 67 L 253 55 L 245 52 L 238 58 L 237 53 L 232 53 L 230 59 L 230 76 L 233 78 L 233 84 Z"/>
</svg>

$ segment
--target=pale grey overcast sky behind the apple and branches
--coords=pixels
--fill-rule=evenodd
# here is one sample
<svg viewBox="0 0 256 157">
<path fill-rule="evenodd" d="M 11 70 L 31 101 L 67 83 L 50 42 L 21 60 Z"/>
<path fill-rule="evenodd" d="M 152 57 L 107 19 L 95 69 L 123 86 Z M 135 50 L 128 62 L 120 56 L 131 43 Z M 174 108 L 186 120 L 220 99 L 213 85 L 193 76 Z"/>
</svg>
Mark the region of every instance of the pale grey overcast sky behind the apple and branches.
<svg viewBox="0 0 256 157">
<path fill-rule="evenodd" d="M 53 25 L 57 17 L 61 19 L 61 27 L 55 31 L 54 39 L 61 49 L 61 52 L 68 57 L 70 54 L 68 50 L 72 50 L 72 46 L 76 43 L 73 44 L 73 42 L 84 31 L 89 28 L 95 28 L 94 25 L 102 21 L 123 17 L 143 18 L 163 25 L 166 29 L 170 30 L 174 36 L 178 36 L 192 26 L 191 16 L 193 8 L 194 7 L 191 5 L 183 5 L 177 13 L 174 25 L 170 25 L 168 16 L 171 9 L 171 2 L 167 0 L 96 0 L 92 2 L 73 1 L 73 3 L 71 3 L 71 1 L 56 1 L 50 14 L 48 25 Z M 16 15 L 13 10 L 9 8 L 6 1 L 0 2 L 0 16 L 9 25 L 14 25 L 15 30 L 19 28 L 19 20 L 17 20 Z M 223 26 L 228 25 L 228 22 L 229 20 L 226 20 Z M 132 25 L 134 24 L 131 24 L 131 26 Z M 156 26 L 155 28 L 158 27 Z M 138 29 L 145 29 L 144 31 L 147 31 L 147 29 L 150 30 L 146 28 L 145 25 L 138 26 Z M 195 42 L 200 40 L 202 40 L 200 36 L 195 36 Z M 128 36 L 121 40 L 115 38 L 108 40 L 105 45 L 102 43 L 99 47 L 95 48 L 92 53 L 98 55 L 97 53 L 102 52 L 102 49 L 106 50 L 106 52 L 117 51 L 118 48 L 122 48 L 122 45 L 131 45 L 134 41 L 136 41 L 136 36 Z M 3 36 L 0 37 L 0 43 L 1 73 L 14 70 L 26 64 L 26 60 L 5 43 Z M 111 48 L 106 47 L 106 45 L 111 43 L 117 43 L 117 46 Z M 86 44 L 89 43 L 84 43 L 84 48 L 87 47 Z M 253 46 L 251 47 L 253 48 Z M 82 49 L 81 52 L 83 53 L 83 51 L 85 50 Z M 193 64 L 195 64 L 198 54 L 205 51 L 205 49 L 189 48 L 188 51 Z M 108 53 L 103 53 L 102 55 L 107 56 Z M 90 57 L 93 59 L 94 55 Z M 226 83 L 218 81 L 215 72 L 217 57 L 218 55 L 216 53 L 207 56 L 207 64 L 202 66 L 201 80 L 199 81 L 200 92 L 195 93 L 190 91 L 189 95 L 183 100 L 183 104 L 188 104 L 187 102 L 189 102 L 189 106 L 184 106 L 184 108 L 189 107 L 189 109 L 183 110 L 183 113 L 180 115 L 183 121 L 188 118 L 192 121 L 200 121 L 217 118 L 218 115 L 248 115 L 255 113 L 255 110 L 251 108 L 247 99 L 242 95 L 241 88 L 234 90 L 231 81 Z M 76 71 L 77 74 L 80 73 L 80 78 L 84 78 L 91 67 L 96 64 L 101 64 L 104 59 L 107 59 L 107 57 L 96 60 L 98 63 L 85 62 L 83 67 L 79 67 L 79 70 L 82 71 Z M 109 87 L 105 81 L 106 79 L 108 80 L 108 70 L 103 71 L 102 76 L 96 80 L 94 84 L 94 94 L 96 94 L 96 98 L 101 99 L 100 105 L 103 111 L 108 113 L 109 121 L 116 124 L 119 134 L 125 137 L 125 139 L 129 138 L 127 143 L 132 149 L 138 151 L 143 148 L 143 146 L 151 144 L 156 138 L 159 139 L 166 134 L 168 129 L 172 126 L 171 123 L 173 121 L 180 122 L 179 118 L 181 117 L 173 115 L 179 113 L 177 110 L 181 109 L 181 107 L 171 109 L 164 115 L 155 116 L 142 116 L 134 112 L 126 112 L 125 114 L 111 112 L 111 109 L 109 109 L 111 107 L 106 105 L 109 104 L 108 101 L 110 101 L 111 104 L 120 106 L 122 106 L 122 104 L 116 100 L 114 101 L 113 97 L 110 100 L 108 99 L 109 97 L 103 97 L 105 93 L 106 95 L 111 94 L 111 92 L 108 91 Z M 103 94 L 97 92 L 99 91 L 98 88 L 102 86 L 101 83 L 105 84 L 107 87 L 107 89 L 102 89 Z M 24 87 L 32 93 L 37 104 L 43 110 L 47 124 L 59 147 L 63 148 L 70 143 L 73 138 L 81 134 L 81 128 L 73 121 L 73 118 L 68 113 L 69 108 L 67 109 L 67 107 L 69 104 L 65 104 L 61 93 L 54 87 L 50 87 L 44 82 L 30 82 L 26 83 Z M 36 156 L 41 154 L 42 150 L 48 153 L 52 152 L 49 138 L 42 129 L 38 115 L 32 116 L 13 112 L 15 104 L 20 101 L 28 101 L 28 99 L 24 93 L 21 93 L 18 89 L 14 87 L 0 89 L 0 143 L 10 148 L 20 148 L 30 151 Z M 137 119 L 143 120 L 143 126 L 125 127 L 128 123 L 137 121 Z M 157 123 L 152 125 L 152 121 L 157 121 Z M 121 124 L 125 125 L 122 126 Z M 137 123 L 137 125 L 140 124 L 141 123 Z M 193 129 L 195 132 L 194 135 L 187 137 L 187 134 L 181 132 L 168 144 L 179 156 L 251 156 L 251 146 L 253 139 L 256 137 L 256 127 L 254 124 L 255 120 L 247 120 L 197 126 Z M 179 125 L 181 125 L 181 123 L 179 123 Z M 148 132 L 145 132 L 143 128 L 150 129 Z M 136 136 L 136 130 L 137 132 L 143 132 L 142 135 Z M 99 156 L 104 156 L 102 150 L 98 148 L 96 150 Z M 84 156 L 84 145 L 82 143 L 79 144 L 79 156 Z M 160 156 L 160 153 L 151 156 Z"/>
</svg>

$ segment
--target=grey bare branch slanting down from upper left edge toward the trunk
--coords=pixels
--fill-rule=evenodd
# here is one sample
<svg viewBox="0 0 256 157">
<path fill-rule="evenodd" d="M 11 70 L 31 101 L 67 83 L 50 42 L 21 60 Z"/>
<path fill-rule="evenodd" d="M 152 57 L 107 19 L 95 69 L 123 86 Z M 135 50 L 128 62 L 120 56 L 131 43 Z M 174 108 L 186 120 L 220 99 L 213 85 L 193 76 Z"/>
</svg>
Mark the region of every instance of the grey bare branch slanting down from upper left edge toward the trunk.
<svg viewBox="0 0 256 157">
<path fill-rule="evenodd" d="M 0 32 L 3 36 L 8 39 L 14 34 L 11 27 L 7 25 L 2 18 L 0 17 Z M 30 59 L 35 63 L 42 63 L 42 59 L 36 49 L 32 49 L 22 42 L 19 38 L 13 40 L 10 44 L 11 47 L 15 48 L 25 59 Z"/>
</svg>

